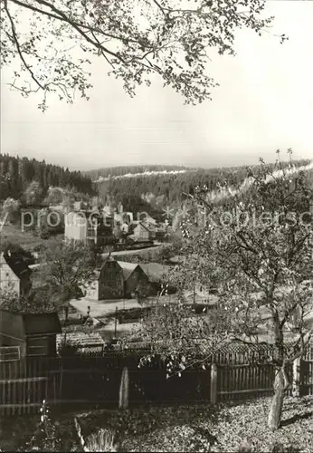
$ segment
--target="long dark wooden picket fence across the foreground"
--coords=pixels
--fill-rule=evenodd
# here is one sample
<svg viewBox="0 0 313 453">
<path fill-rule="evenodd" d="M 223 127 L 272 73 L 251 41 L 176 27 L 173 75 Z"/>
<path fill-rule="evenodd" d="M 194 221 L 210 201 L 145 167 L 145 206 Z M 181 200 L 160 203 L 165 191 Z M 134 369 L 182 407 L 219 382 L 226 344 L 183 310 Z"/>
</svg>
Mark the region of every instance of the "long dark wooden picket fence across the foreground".
<svg viewBox="0 0 313 453">
<path fill-rule="evenodd" d="M 128 367 L 128 401 L 142 404 L 217 402 L 272 394 L 274 369 L 262 363 L 264 352 L 238 347 L 213 357 L 207 370 L 184 371 L 166 379 L 161 362 L 138 369 L 139 357 L 114 353 L 103 357 L 28 358 L 0 362 L 0 413 L 29 413 L 43 399 L 52 406 L 117 408 L 119 384 Z M 292 366 L 289 369 L 292 379 Z M 290 392 L 290 390 L 288 390 Z M 313 394 L 313 352 L 300 363 L 300 394 Z"/>
</svg>

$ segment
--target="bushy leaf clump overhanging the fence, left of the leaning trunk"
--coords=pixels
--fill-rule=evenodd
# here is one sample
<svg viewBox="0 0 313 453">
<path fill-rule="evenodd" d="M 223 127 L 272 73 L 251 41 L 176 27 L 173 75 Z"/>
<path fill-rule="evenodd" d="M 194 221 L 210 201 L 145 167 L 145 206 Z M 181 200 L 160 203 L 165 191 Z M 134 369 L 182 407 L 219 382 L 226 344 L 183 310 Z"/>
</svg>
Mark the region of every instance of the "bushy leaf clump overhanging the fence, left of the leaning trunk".
<svg viewBox="0 0 313 453">
<path fill-rule="evenodd" d="M 181 302 L 151 308 L 144 316 L 140 337 L 151 345 L 151 354 L 139 366 L 160 355 L 166 361 L 167 377 L 180 376 L 194 366 L 205 369 L 213 353 L 230 341 L 221 316 L 214 311 L 198 316 L 191 305 Z"/>
</svg>

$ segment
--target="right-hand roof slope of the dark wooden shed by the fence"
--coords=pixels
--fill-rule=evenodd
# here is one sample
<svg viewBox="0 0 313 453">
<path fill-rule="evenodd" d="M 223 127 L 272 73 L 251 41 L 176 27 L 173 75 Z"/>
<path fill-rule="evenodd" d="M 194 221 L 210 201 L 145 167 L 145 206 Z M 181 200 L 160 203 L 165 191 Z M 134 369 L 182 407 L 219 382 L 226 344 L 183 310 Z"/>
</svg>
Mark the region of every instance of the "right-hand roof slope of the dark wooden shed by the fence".
<svg viewBox="0 0 313 453">
<path fill-rule="evenodd" d="M 26 335 L 62 333 L 58 313 L 22 314 Z"/>
</svg>

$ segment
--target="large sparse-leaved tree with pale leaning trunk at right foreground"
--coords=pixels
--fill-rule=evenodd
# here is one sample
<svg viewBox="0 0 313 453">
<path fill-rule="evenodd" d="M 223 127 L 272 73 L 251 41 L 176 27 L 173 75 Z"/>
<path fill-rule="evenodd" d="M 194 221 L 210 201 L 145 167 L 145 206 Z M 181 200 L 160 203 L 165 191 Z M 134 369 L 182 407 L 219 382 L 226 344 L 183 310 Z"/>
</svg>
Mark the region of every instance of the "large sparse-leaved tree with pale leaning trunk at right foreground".
<svg viewBox="0 0 313 453">
<path fill-rule="evenodd" d="M 182 225 L 185 260 L 177 266 L 177 284 L 182 289 L 199 284 L 209 290 L 218 283 L 218 309 L 195 321 L 183 305 L 168 307 L 165 313 L 156 313 L 152 322 L 147 318 L 144 327 L 156 351 L 166 348 L 167 357 L 177 357 L 182 370 L 195 356 L 205 365 L 206 353 L 210 361 L 213 339 L 256 346 L 272 342 L 273 355 L 267 358 L 276 367 L 271 429 L 280 426 L 283 393 L 290 384 L 288 365 L 303 355 L 313 333 L 306 322 L 313 290 L 305 282 L 311 265 L 308 209 L 312 191 L 304 172 L 294 168 L 290 149 L 289 156 L 289 166 L 278 158 L 274 169 L 261 160 L 257 171 L 248 169 L 241 189 L 232 190 L 225 182 L 219 191 L 204 186 L 190 195 L 194 210 Z M 201 210 L 204 221 L 200 223 Z M 294 325 L 288 335 L 290 323 Z M 162 326 L 163 338 L 158 326 Z M 268 330 L 266 340 L 261 339 L 264 329 Z M 292 347 L 287 348 L 287 339 Z M 198 340 L 207 348 L 204 354 Z"/>
</svg>

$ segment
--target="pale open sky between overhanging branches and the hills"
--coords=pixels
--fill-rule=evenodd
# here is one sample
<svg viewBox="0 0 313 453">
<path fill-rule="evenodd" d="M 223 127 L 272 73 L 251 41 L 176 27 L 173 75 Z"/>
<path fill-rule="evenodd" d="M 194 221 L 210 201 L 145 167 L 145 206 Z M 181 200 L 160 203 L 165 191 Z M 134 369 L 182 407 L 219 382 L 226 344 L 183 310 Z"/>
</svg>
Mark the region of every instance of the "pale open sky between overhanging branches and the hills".
<svg viewBox="0 0 313 453">
<path fill-rule="evenodd" d="M 220 86 L 213 101 L 197 106 L 160 82 L 129 98 L 99 60 L 90 101 L 51 98 L 43 113 L 38 98 L 9 89 L 4 70 L 1 152 L 80 170 L 251 165 L 288 148 L 295 159 L 313 159 L 313 1 L 270 0 L 266 13 L 275 15 L 270 33 L 242 30 L 235 57 L 213 58 L 209 73 Z M 274 34 L 289 41 L 280 44 Z"/>
</svg>

